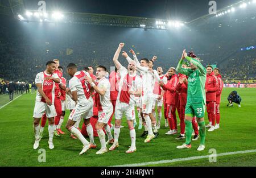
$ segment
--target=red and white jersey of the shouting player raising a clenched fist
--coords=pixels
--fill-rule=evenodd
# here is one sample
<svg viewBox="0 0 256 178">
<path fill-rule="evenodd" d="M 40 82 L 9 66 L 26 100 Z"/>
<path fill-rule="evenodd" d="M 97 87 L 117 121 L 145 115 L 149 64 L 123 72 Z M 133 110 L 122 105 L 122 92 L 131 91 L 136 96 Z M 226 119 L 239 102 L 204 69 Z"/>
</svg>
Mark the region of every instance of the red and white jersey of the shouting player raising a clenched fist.
<svg viewBox="0 0 256 178">
<path fill-rule="evenodd" d="M 119 82 L 119 92 L 117 100 L 125 102 L 126 104 L 135 105 L 136 99 L 134 95 L 130 95 L 129 91 L 136 92 L 139 88 L 142 88 L 142 79 L 136 73 L 134 76 L 129 75 L 128 70 L 125 67 L 119 68 L 121 76 Z"/>
</svg>

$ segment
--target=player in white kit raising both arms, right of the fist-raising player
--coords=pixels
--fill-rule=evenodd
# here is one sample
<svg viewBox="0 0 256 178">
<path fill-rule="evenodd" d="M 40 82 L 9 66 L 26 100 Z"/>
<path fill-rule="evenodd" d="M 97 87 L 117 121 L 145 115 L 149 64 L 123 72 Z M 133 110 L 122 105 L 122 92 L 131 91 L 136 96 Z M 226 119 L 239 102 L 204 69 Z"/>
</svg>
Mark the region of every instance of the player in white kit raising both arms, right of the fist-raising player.
<svg viewBox="0 0 256 178">
<path fill-rule="evenodd" d="M 141 72 L 142 76 L 142 113 L 143 117 L 146 121 L 146 126 L 148 129 L 148 135 L 147 138 L 144 140 L 144 143 L 150 142 L 151 139 L 155 138 L 155 135 L 152 131 L 152 122 L 150 119 L 150 115 L 152 112 L 152 105 L 153 105 L 153 88 L 154 88 L 154 77 L 158 78 L 158 81 L 160 81 L 160 78 L 158 76 L 158 73 L 155 70 L 152 70 L 149 65 L 149 60 L 144 58 L 141 59 L 141 63 L 139 63 L 137 56 L 135 55 L 134 51 L 131 51 L 133 53 L 133 57 L 136 63 L 136 69 L 137 71 Z M 133 61 L 126 52 L 123 51 L 123 57 L 126 58 L 126 60 L 130 63 L 130 61 Z M 156 130 L 156 123 L 154 123 L 154 130 Z"/>
</svg>

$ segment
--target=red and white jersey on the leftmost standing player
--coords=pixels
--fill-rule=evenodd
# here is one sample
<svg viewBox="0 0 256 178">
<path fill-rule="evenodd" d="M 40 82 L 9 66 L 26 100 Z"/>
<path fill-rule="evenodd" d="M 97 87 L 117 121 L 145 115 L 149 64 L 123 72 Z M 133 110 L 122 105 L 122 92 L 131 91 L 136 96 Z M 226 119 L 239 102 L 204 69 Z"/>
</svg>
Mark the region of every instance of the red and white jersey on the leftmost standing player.
<svg viewBox="0 0 256 178">
<path fill-rule="evenodd" d="M 59 78 L 59 76 L 56 73 L 47 74 L 46 71 L 44 71 L 36 74 L 35 78 L 35 84 L 42 84 L 44 94 L 46 94 L 49 100 L 53 103 L 55 98 L 55 82 L 53 80 L 44 80 L 46 77 Z M 38 91 L 36 92 L 36 101 L 46 102 Z"/>
</svg>

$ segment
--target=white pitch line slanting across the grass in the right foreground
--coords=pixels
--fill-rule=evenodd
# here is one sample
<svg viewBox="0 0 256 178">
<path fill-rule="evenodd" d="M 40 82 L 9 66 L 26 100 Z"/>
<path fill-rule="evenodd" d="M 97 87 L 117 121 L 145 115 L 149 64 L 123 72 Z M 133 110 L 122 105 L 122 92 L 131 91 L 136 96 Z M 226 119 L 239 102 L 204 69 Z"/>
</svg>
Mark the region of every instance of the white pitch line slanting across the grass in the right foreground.
<svg viewBox="0 0 256 178">
<path fill-rule="evenodd" d="M 217 154 L 216 156 L 226 156 L 226 155 L 237 155 L 237 154 L 247 154 L 250 152 L 256 152 L 256 150 L 245 150 L 245 151 L 235 151 L 235 152 L 224 152 L 222 154 Z M 136 164 L 123 164 L 123 165 L 113 165 L 113 167 L 138 167 L 144 165 L 152 165 L 152 164 L 164 164 L 164 163 L 174 163 L 174 162 L 184 162 L 189 160 L 196 160 L 196 159 L 204 159 L 209 158 L 210 155 L 205 156 L 192 156 L 188 158 L 177 158 L 177 159 L 170 159 L 170 160 L 160 160 L 157 162 L 146 162 L 146 163 L 136 163 Z"/>
</svg>

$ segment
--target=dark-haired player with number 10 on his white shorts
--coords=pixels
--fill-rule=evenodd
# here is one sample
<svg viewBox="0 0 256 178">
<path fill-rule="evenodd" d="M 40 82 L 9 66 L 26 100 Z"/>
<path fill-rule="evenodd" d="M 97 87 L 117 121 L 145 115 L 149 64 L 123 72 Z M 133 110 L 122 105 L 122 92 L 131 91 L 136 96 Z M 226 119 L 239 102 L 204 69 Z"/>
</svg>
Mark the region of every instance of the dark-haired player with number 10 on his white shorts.
<svg viewBox="0 0 256 178">
<path fill-rule="evenodd" d="M 105 74 L 106 68 L 103 65 L 99 65 L 96 70 L 97 85 L 94 84 L 91 77 L 86 77 L 86 81 L 88 81 L 96 91 L 95 102 L 98 108 L 98 121 L 95 127 L 101 142 L 101 149 L 97 151 L 96 154 L 104 154 L 105 152 L 108 152 L 105 133 L 102 130 L 103 127 L 108 135 L 108 142 L 112 142 L 113 140 L 111 129 L 108 125 L 108 121 L 113 113 L 113 105 L 110 100 L 110 82 L 105 77 Z"/>
</svg>

